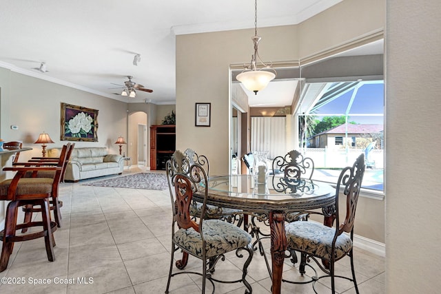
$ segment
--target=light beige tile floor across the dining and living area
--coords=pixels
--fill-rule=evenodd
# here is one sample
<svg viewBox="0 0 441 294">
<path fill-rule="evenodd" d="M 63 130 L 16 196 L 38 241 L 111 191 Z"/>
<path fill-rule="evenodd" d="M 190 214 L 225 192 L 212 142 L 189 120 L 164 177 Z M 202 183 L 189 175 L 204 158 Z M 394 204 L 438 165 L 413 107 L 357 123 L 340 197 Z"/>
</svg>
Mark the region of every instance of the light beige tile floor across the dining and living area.
<svg viewBox="0 0 441 294">
<path fill-rule="evenodd" d="M 124 174 L 139 171 L 132 167 Z M 8 269 L 0 273 L 11 284 L 2 280 L 0 293 L 164 293 L 171 248 L 168 190 L 81 184 L 61 184 L 63 227 L 54 233 L 55 262 L 48 262 L 41 238 L 15 244 Z M 265 244 L 268 251 L 269 244 Z M 360 293 L 385 293 L 384 258 L 360 249 L 354 255 Z M 218 263 L 214 274 L 220 279 L 236 279 L 243 260 L 234 253 L 228 254 L 225 262 Z M 187 268 L 198 270 L 201 261 L 190 257 Z M 350 275 L 349 258 L 338 262 L 336 271 Z M 298 278 L 298 269 L 288 259 L 283 277 Z M 265 261 L 257 252 L 249 266 L 248 280 L 253 293 L 270 293 Z M 356 293 L 351 282 L 337 279 L 336 283 L 338 293 Z M 170 293 L 200 293 L 201 284 L 198 276 L 178 275 L 172 278 Z M 316 291 L 331 293 L 330 281 L 320 280 Z M 207 293 L 211 292 L 212 286 L 207 283 Z M 216 293 L 244 292 L 241 284 L 216 283 Z M 311 284 L 284 282 L 282 293 L 314 291 Z"/>
</svg>

